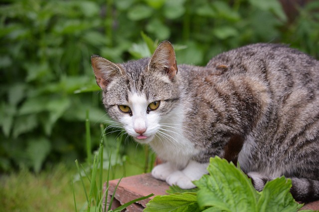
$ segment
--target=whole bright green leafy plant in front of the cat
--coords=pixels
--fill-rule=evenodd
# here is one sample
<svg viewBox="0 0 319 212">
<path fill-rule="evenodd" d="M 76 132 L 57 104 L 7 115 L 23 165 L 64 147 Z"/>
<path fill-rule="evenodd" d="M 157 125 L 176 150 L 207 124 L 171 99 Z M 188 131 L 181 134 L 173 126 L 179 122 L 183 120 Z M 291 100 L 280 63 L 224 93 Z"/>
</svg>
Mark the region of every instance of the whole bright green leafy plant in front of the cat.
<svg viewBox="0 0 319 212">
<path fill-rule="evenodd" d="M 264 190 L 257 192 L 247 175 L 225 159 L 211 158 L 207 170 L 209 175 L 194 181 L 198 191 L 181 193 L 171 187 L 169 193 L 179 193 L 155 197 L 145 212 L 297 212 L 303 206 L 295 202 L 291 180 L 285 177 L 267 182 Z"/>
</svg>

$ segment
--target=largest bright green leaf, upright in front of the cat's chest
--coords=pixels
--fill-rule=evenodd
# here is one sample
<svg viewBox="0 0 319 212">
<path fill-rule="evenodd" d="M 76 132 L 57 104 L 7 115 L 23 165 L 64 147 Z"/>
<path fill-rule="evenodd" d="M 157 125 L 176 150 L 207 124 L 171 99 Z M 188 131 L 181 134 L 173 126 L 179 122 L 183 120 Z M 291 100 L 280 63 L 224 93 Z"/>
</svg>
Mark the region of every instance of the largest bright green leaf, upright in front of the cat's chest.
<svg viewBox="0 0 319 212">
<path fill-rule="evenodd" d="M 194 184 L 199 188 L 201 209 L 214 207 L 228 212 L 257 210 L 257 192 L 248 177 L 233 163 L 219 157 L 211 158 L 204 175 Z"/>
</svg>

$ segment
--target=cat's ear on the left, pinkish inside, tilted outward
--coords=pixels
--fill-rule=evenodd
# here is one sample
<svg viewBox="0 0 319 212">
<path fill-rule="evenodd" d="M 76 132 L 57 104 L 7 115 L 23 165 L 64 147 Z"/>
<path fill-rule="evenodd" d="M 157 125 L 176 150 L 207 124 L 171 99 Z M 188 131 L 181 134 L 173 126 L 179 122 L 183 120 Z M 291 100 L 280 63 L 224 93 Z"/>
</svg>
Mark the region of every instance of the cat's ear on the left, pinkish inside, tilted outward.
<svg viewBox="0 0 319 212">
<path fill-rule="evenodd" d="M 118 65 L 97 55 L 93 55 L 91 57 L 91 64 L 95 74 L 96 83 L 102 89 L 106 88 L 113 76 L 123 74 Z"/>
</svg>

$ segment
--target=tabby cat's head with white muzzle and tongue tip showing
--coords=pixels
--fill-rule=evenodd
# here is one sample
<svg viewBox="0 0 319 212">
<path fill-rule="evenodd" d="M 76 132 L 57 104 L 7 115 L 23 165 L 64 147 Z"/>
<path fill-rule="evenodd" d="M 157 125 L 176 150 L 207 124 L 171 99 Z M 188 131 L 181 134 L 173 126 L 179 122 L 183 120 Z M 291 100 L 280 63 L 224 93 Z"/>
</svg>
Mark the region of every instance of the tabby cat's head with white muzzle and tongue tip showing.
<svg viewBox="0 0 319 212">
<path fill-rule="evenodd" d="M 179 102 L 172 45 L 163 41 L 152 58 L 124 64 L 95 55 L 91 62 L 109 116 L 136 141 L 152 141 Z"/>
</svg>

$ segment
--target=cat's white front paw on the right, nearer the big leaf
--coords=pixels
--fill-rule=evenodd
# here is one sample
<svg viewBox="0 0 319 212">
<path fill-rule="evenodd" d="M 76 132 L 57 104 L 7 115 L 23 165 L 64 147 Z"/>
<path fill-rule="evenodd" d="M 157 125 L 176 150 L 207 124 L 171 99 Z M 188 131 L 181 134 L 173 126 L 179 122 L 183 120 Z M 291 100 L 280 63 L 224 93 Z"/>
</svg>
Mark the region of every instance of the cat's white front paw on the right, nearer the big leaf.
<svg viewBox="0 0 319 212">
<path fill-rule="evenodd" d="M 166 182 L 169 185 L 177 185 L 182 189 L 195 188 L 196 186 L 192 183 L 192 181 L 199 180 L 201 176 L 207 174 L 207 166 L 208 163 L 198 163 L 191 160 L 183 170 L 176 170 L 171 173 L 166 178 Z"/>
</svg>

